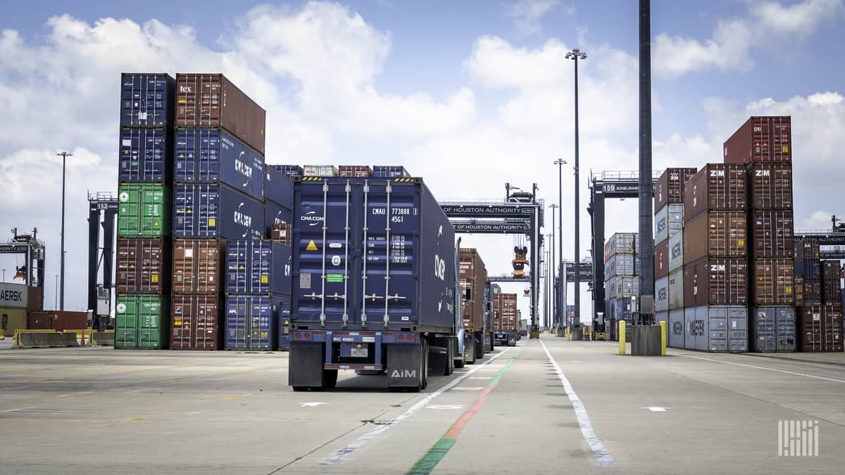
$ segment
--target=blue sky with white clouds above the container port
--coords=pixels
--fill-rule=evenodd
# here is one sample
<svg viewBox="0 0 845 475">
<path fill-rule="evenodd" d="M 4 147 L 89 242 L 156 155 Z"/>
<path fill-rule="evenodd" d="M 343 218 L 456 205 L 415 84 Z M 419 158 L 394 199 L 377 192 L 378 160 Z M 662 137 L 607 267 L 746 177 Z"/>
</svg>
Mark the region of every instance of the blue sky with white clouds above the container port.
<svg viewBox="0 0 845 475">
<path fill-rule="evenodd" d="M 38 228 L 47 308 L 59 262 L 55 153 L 74 153 L 65 306 L 81 309 L 87 192 L 117 191 L 121 72 L 226 74 L 267 110 L 268 163 L 400 164 L 439 199 L 500 199 L 505 182 L 537 183 L 550 205 L 553 161 L 574 156 L 574 68 L 564 55 L 580 48 L 581 222 L 591 172 L 638 167 L 633 0 L 32 0 L 3 10 L 0 241 L 13 227 Z M 721 161 L 722 142 L 750 115 L 791 115 L 796 227 L 829 227 L 845 212 L 843 25 L 845 0 L 653 1 L 654 169 Z M 567 259 L 574 189 L 564 168 Z M 608 203 L 607 213 L 608 236 L 636 230 L 636 200 Z M 590 230 L 580 231 L 586 254 Z M 514 238 L 468 235 L 462 245 L 479 248 L 491 274 L 510 272 Z M 7 281 L 20 264 L 0 256 Z M 524 315 L 527 306 L 521 298 Z"/>
</svg>

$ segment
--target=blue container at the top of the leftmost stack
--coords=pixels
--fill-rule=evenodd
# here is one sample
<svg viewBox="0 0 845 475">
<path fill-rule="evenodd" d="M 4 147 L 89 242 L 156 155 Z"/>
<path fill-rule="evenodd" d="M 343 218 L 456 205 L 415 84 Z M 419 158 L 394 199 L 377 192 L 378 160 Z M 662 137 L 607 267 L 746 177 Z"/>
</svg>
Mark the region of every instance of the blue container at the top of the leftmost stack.
<svg viewBox="0 0 845 475">
<path fill-rule="evenodd" d="M 120 124 L 124 127 L 172 128 L 176 79 L 168 74 L 120 77 Z"/>
</svg>

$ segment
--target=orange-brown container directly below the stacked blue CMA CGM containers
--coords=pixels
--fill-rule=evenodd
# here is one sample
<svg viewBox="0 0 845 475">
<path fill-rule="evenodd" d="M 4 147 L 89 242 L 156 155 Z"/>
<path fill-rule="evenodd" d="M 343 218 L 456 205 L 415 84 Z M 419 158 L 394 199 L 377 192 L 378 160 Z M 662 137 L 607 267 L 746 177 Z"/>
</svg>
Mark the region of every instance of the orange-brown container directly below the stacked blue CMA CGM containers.
<svg viewBox="0 0 845 475">
<path fill-rule="evenodd" d="M 177 239 L 173 243 L 173 292 L 220 292 L 225 245 L 217 239 Z"/>
</svg>

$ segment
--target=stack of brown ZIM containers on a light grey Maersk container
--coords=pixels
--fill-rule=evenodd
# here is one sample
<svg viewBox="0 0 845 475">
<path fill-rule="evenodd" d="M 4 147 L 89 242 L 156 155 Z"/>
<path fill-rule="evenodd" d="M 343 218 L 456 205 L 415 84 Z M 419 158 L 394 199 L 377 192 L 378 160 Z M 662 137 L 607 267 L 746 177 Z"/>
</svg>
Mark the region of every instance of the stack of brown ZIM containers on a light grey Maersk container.
<svg viewBox="0 0 845 475">
<path fill-rule="evenodd" d="M 687 349 L 748 351 L 746 198 L 742 165 L 707 164 L 684 187 Z"/>
</svg>

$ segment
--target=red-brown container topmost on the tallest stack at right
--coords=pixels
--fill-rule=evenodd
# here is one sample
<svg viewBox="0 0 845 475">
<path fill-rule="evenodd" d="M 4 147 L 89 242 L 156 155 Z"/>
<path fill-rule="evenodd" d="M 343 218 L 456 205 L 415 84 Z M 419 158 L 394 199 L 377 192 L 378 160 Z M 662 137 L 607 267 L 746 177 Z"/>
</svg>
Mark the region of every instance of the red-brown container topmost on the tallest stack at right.
<svg viewBox="0 0 845 475">
<path fill-rule="evenodd" d="M 724 143 L 725 163 L 792 161 L 792 118 L 750 117 Z"/>
</svg>

